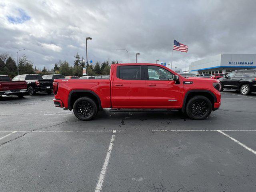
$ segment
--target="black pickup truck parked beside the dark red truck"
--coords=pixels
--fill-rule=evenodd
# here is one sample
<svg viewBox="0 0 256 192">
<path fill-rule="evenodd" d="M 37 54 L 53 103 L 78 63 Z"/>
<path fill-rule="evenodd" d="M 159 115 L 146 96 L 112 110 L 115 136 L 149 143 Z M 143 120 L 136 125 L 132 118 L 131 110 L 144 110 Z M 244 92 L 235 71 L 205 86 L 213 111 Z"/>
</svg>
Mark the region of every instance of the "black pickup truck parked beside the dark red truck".
<svg viewBox="0 0 256 192">
<path fill-rule="evenodd" d="M 48 94 L 52 93 L 53 80 L 43 79 L 41 75 L 37 74 L 26 74 L 18 75 L 12 79 L 13 81 L 26 81 L 28 87 L 28 94 L 34 95 L 36 92 L 45 91 Z"/>
</svg>

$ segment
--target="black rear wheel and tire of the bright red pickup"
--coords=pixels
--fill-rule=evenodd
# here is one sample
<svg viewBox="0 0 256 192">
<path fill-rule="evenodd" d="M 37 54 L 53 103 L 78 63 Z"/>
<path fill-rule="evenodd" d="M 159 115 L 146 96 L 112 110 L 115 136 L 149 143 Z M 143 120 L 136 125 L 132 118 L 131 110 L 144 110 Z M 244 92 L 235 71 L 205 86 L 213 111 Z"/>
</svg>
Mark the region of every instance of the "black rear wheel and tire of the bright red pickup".
<svg viewBox="0 0 256 192">
<path fill-rule="evenodd" d="M 98 108 L 91 98 L 81 97 L 74 102 L 73 113 L 78 119 L 88 121 L 96 116 Z"/>
</svg>

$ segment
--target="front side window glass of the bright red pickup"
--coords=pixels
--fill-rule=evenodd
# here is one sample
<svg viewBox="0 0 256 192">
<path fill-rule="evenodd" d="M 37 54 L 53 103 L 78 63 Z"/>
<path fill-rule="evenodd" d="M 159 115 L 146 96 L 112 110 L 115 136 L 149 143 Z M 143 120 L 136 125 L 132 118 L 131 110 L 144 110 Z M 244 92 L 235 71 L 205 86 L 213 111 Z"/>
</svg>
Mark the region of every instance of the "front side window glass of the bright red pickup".
<svg viewBox="0 0 256 192">
<path fill-rule="evenodd" d="M 148 66 L 148 80 L 172 80 L 173 74 L 158 66 Z"/>
</svg>

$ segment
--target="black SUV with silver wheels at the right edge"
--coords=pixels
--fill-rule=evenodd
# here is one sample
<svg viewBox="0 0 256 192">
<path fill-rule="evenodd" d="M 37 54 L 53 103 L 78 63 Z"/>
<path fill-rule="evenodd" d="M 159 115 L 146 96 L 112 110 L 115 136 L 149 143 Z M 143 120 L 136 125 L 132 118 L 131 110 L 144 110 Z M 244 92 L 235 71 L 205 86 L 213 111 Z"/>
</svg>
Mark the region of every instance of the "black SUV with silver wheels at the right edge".
<svg viewBox="0 0 256 192">
<path fill-rule="evenodd" d="M 220 80 L 220 91 L 223 89 L 236 90 L 242 95 L 256 92 L 256 69 L 235 70 Z"/>
</svg>

